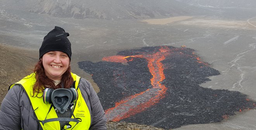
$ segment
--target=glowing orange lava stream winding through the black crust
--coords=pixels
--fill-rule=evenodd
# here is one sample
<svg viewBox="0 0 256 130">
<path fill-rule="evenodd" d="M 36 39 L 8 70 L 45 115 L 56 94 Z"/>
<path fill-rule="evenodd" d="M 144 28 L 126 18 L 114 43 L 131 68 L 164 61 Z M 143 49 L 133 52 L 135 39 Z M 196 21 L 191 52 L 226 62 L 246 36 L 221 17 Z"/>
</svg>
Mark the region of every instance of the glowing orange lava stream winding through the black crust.
<svg viewBox="0 0 256 130">
<path fill-rule="evenodd" d="M 119 121 L 124 118 L 128 118 L 144 111 L 164 98 L 167 87 L 160 83 L 165 79 L 163 71 L 164 67 L 161 61 L 163 61 L 165 56 L 169 54 L 170 49 L 167 46 L 163 46 L 159 49 L 159 52 L 151 55 L 109 56 L 102 59 L 109 62 L 124 63 L 125 61 L 127 62 L 126 58 L 128 57 L 145 58 L 148 62 L 147 66 L 149 71 L 153 76 L 152 79 L 150 79 L 151 85 L 153 86 L 152 88 L 130 97 L 126 97 L 118 103 L 115 103 L 113 108 L 109 108 L 105 111 L 107 120 Z"/>
</svg>

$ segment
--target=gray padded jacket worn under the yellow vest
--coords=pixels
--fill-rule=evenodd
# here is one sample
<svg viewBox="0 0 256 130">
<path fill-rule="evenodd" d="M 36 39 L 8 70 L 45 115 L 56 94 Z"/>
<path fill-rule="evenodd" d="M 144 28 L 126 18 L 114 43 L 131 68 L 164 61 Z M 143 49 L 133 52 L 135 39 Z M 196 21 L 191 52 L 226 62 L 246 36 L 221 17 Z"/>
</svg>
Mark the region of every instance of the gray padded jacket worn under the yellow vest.
<svg viewBox="0 0 256 130">
<path fill-rule="evenodd" d="M 81 78 L 78 87 L 90 111 L 90 130 L 106 130 L 105 112 L 92 85 Z M 2 101 L 0 130 L 38 130 L 40 124 L 33 118 L 35 117 L 33 114 L 26 92 L 21 86 L 14 85 Z"/>
</svg>

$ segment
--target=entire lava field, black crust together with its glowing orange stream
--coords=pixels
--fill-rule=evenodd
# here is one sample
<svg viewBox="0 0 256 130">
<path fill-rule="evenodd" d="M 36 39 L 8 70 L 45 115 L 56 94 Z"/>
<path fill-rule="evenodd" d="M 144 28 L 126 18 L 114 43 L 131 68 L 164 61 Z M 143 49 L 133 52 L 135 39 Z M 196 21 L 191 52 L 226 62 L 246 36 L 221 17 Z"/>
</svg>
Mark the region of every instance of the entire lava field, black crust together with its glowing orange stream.
<svg viewBox="0 0 256 130">
<path fill-rule="evenodd" d="M 99 86 L 107 120 L 170 129 L 219 122 L 255 106 L 241 92 L 199 86 L 220 73 L 190 48 L 144 47 L 102 60 L 78 65 Z"/>
</svg>

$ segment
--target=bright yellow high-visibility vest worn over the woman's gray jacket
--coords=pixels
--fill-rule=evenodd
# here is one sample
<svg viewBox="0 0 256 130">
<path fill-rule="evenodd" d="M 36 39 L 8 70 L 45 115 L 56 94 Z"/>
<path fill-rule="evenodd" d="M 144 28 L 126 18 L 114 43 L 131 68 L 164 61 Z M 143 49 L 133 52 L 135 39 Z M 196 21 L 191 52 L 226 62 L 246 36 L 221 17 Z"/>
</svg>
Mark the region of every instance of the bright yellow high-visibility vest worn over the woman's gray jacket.
<svg viewBox="0 0 256 130">
<path fill-rule="evenodd" d="M 75 126 L 75 128 L 73 130 L 88 130 L 90 127 L 90 124 L 91 124 L 91 116 L 90 116 L 90 111 L 88 109 L 88 106 L 86 105 L 85 100 L 83 99 L 83 96 L 81 94 L 81 91 L 78 88 L 80 77 L 73 73 L 71 73 L 71 75 L 72 75 L 74 81 L 76 81 L 75 88 L 78 91 L 78 100 L 74 104 L 73 113 L 76 118 L 81 118 L 81 120 L 82 120 Z M 33 95 L 33 85 L 35 84 L 35 81 L 36 81 L 35 73 L 32 73 L 32 74 L 24 77 L 22 80 L 20 80 L 19 82 L 15 83 L 15 84 L 20 84 L 23 87 L 23 89 L 26 91 L 27 96 L 31 102 L 31 105 L 33 107 L 33 110 L 34 110 L 38 120 L 42 121 L 42 120 L 45 120 L 45 118 L 46 119 L 58 118 L 53 107 L 50 110 L 50 112 L 48 113 L 51 104 L 43 103 L 43 97 L 42 97 L 43 92 L 38 94 L 38 97 L 41 97 L 41 98 L 31 96 L 31 95 Z M 15 84 L 12 84 L 9 89 L 11 89 Z M 48 113 L 48 115 L 47 115 L 47 113 Z M 74 118 L 74 117 L 72 116 L 71 118 Z M 41 124 L 43 130 L 61 130 L 59 121 L 48 122 L 48 123 L 45 123 L 44 125 L 42 125 L 42 123 L 40 122 L 40 124 Z M 76 122 L 70 121 L 69 124 L 72 127 L 67 128 L 65 130 L 71 130 L 73 128 L 73 126 L 76 124 Z"/>
</svg>

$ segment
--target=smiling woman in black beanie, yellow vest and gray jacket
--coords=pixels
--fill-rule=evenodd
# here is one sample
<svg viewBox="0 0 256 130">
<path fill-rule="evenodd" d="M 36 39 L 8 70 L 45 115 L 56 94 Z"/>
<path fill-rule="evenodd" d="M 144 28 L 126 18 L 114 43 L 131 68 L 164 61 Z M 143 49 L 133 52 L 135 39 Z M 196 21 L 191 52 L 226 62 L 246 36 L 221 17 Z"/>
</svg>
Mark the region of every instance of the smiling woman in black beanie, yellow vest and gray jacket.
<svg viewBox="0 0 256 130">
<path fill-rule="evenodd" d="M 34 72 L 12 84 L 2 101 L 0 130 L 106 130 L 91 83 L 71 73 L 67 36 L 55 26 L 44 37 Z"/>
</svg>

